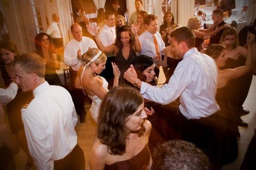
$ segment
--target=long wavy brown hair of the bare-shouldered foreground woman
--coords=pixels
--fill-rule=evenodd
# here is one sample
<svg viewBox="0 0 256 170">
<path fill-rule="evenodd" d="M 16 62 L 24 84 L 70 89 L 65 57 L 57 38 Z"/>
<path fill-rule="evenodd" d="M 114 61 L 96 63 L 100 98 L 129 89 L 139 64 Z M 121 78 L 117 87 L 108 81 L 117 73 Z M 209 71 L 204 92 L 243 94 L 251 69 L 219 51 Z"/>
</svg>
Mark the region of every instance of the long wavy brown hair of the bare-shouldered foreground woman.
<svg viewBox="0 0 256 170">
<path fill-rule="evenodd" d="M 108 146 L 111 155 L 125 153 L 127 133 L 126 118 L 137 111 L 143 103 L 140 92 L 131 87 L 114 87 L 102 100 L 98 117 L 98 135 L 100 142 Z M 142 136 L 145 127 L 138 130 Z"/>
</svg>

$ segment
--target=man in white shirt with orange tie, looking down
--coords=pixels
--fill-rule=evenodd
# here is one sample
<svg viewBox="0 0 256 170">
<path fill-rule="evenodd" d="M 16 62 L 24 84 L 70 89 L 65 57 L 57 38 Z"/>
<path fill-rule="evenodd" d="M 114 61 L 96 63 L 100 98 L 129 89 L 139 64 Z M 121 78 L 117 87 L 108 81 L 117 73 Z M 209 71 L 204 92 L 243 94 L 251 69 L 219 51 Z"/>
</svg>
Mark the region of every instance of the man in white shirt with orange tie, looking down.
<svg viewBox="0 0 256 170">
<path fill-rule="evenodd" d="M 157 31 L 157 17 L 149 14 L 144 18 L 147 31 L 140 35 L 142 49 L 139 54 L 153 58 L 155 61 L 161 60 L 165 43 L 161 34 Z M 157 66 L 157 65 L 155 65 Z M 159 76 L 159 68 L 154 69 L 156 77 Z"/>
</svg>

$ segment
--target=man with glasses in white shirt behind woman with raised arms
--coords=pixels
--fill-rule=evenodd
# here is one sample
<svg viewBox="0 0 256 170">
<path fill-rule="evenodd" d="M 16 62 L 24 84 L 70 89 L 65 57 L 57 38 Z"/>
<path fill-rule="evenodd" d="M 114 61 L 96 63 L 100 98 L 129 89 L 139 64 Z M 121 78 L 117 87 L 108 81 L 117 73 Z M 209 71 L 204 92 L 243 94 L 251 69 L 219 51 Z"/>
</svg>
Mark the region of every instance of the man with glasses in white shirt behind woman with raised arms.
<svg viewBox="0 0 256 170">
<path fill-rule="evenodd" d="M 112 11 L 104 12 L 104 23 L 105 25 L 101 28 L 99 32 L 99 39 L 103 46 L 110 46 L 116 42 L 116 27 L 115 27 L 115 15 Z M 115 56 L 113 53 L 106 54 L 107 62 L 105 65 L 105 70 L 102 71 L 100 76 L 104 77 L 108 83 L 111 84 L 111 79 L 113 79 L 113 68 L 111 62 L 114 61 Z"/>
</svg>

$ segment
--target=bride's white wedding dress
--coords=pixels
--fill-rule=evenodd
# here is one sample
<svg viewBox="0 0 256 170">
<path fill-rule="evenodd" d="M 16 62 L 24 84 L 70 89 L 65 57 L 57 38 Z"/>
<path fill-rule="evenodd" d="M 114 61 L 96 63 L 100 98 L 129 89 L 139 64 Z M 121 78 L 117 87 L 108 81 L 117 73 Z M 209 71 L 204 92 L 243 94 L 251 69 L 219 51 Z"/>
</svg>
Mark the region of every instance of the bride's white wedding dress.
<svg viewBox="0 0 256 170">
<path fill-rule="evenodd" d="M 84 67 L 83 72 L 81 74 L 81 82 L 82 82 L 82 79 L 83 79 L 85 68 L 86 67 Z M 108 92 L 108 82 L 107 82 L 107 80 L 104 77 L 101 77 L 101 76 L 98 76 L 98 77 L 102 79 L 102 81 L 103 81 L 102 87 L 105 89 L 105 91 Z M 83 91 L 84 91 L 83 84 L 81 83 L 81 85 L 82 85 L 82 88 L 83 88 Z M 85 92 L 84 92 L 84 95 L 86 95 Z M 91 104 L 91 108 L 90 108 L 91 116 L 92 116 L 93 120 L 96 123 L 98 123 L 99 106 L 100 106 L 102 100 L 97 95 L 95 95 L 95 96 L 88 95 L 88 96 L 93 101 L 92 104 Z"/>
</svg>

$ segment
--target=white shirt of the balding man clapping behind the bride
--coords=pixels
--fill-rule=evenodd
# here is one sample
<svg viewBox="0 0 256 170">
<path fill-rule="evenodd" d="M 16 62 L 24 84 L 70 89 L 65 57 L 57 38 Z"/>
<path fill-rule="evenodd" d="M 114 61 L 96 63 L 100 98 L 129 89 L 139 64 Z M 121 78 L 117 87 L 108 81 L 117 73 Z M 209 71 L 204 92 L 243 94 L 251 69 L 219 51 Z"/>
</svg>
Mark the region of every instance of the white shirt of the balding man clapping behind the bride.
<svg viewBox="0 0 256 170">
<path fill-rule="evenodd" d="M 67 43 L 64 50 L 64 62 L 66 65 L 72 67 L 73 70 L 78 71 L 82 65 L 81 61 L 77 58 L 77 51 L 81 49 L 83 55 L 89 48 L 98 48 L 96 43 L 88 38 L 82 37 L 82 40 L 76 41 L 75 39 Z"/>
</svg>

